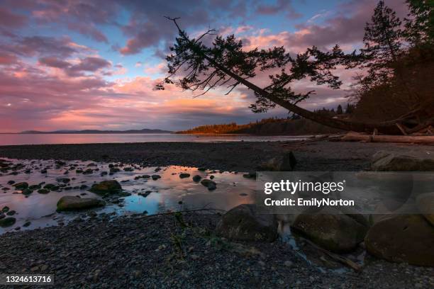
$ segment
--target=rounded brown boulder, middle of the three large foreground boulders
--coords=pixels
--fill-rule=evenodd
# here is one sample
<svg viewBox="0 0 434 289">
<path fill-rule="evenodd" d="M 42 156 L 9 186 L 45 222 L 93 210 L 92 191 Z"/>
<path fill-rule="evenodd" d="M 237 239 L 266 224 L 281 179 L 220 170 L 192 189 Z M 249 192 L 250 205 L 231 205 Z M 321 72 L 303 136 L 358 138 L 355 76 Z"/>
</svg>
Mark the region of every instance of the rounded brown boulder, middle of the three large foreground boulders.
<svg viewBox="0 0 434 289">
<path fill-rule="evenodd" d="M 318 246 L 337 253 L 354 250 L 369 229 L 362 215 L 335 208 L 300 214 L 291 227 Z"/>
</svg>

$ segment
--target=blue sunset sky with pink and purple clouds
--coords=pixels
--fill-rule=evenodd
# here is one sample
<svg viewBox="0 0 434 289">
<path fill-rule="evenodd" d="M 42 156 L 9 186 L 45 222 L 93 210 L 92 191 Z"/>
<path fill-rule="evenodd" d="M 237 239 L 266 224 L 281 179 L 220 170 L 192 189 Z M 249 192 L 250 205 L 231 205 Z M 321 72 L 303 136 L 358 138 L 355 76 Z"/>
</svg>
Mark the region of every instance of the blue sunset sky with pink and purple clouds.
<svg viewBox="0 0 434 289">
<path fill-rule="evenodd" d="M 404 0 L 386 5 L 405 16 Z M 292 54 L 338 43 L 362 45 L 374 0 L 1 0 L 0 132 L 22 130 L 183 130 L 213 123 L 248 123 L 286 117 L 276 108 L 252 113 L 243 88 L 228 96 L 169 86 L 156 91 L 167 72 L 165 55 L 177 30 L 164 16 L 180 17 L 191 35 L 215 28 L 235 34 L 245 49 L 284 46 Z M 339 90 L 308 81 L 296 92 L 315 90 L 301 106 L 311 110 L 345 104 L 354 72 L 338 69 Z M 267 85 L 266 74 L 254 79 Z"/>
</svg>

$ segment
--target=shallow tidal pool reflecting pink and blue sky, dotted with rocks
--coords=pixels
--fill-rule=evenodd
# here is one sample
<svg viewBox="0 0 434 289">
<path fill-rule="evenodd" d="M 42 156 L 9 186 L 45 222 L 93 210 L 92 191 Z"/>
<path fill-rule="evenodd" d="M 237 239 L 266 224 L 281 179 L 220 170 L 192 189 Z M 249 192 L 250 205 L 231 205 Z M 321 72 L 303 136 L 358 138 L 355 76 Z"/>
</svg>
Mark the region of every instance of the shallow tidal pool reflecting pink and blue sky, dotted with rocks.
<svg viewBox="0 0 434 289">
<path fill-rule="evenodd" d="M 230 210 L 242 203 L 252 203 L 255 180 L 246 179 L 242 173 L 228 171 L 199 170 L 186 166 L 145 167 L 138 164 L 97 163 L 55 160 L 18 160 L 4 159 L 11 162 L 9 169 L 0 176 L 0 210 L 5 206 L 16 213 L 16 223 L 10 227 L 0 227 L 0 234 L 15 229 L 35 229 L 51 225 L 63 225 L 77 216 L 89 214 L 89 210 L 82 212 L 56 212 L 56 203 L 62 196 L 81 196 L 82 198 L 101 198 L 101 196 L 87 190 L 93 183 L 115 179 L 130 196 L 120 198 L 119 203 L 106 203 L 104 208 L 90 210 L 91 213 L 111 213 L 113 215 L 128 215 L 148 212 L 155 214 L 167 210 L 190 210 L 198 208 L 214 208 Z M 106 174 L 110 166 L 119 169 L 114 174 Z M 89 174 L 83 172 L 91 170 Z M 45 172 L 46 171 L 46 172 Z M 77 172 L 78 171 L 78 172 Z M 80 172 L 82 171 L 82 172 Z M 190 174 L 187 178 L 180 178 L 179 174 Z M 159 175 L 160 179 L 143 179 L 140 176 Z M 199 175 L 217 183 L 216 190 L 208 188 L 192 177 Z M 59 181 L 61 178 L 69 182 Z M 26 182 L 29 186 L 52 183 L 61 185 L 60 191 L 38 193 L 33 191 L 25 196 L 21 190 L 13 187 L 16 183 Z M 80 186 L 87 188 L 80 189 Z M 30 222 L 28 227 L 24 224 Z M 27 225 L 27 224 L 26 224 Z"/>
</svg>

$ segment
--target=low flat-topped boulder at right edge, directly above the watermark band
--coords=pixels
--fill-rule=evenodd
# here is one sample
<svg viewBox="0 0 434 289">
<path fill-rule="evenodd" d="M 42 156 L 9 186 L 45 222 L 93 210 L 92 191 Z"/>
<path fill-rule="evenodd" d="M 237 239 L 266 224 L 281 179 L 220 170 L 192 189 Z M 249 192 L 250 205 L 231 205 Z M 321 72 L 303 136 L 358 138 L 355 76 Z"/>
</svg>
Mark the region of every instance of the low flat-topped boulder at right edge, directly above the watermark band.
<svg viewBox="0 0 434 289">
<path fill-rule="evenodd" d="M 371 162 L 373 171 L 434 171 L 434 157 L 380 151 Z"/>
</svg>

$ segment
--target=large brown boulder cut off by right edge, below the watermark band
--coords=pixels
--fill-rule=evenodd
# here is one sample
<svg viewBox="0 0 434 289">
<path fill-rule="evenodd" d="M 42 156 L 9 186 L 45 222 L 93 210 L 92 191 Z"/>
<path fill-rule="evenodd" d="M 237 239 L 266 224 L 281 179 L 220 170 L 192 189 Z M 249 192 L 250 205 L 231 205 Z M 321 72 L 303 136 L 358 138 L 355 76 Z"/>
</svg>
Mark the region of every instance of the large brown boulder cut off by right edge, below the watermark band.
<svg viewBox="0 0 434 289">
<path fill-rule="evenodd" d="M 377 222 L 365 237 L 370 254 L 392 262 L 434 266 L 434 227 L 421 215 Z"/>
</svg>

